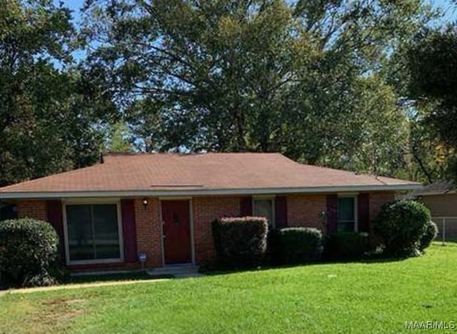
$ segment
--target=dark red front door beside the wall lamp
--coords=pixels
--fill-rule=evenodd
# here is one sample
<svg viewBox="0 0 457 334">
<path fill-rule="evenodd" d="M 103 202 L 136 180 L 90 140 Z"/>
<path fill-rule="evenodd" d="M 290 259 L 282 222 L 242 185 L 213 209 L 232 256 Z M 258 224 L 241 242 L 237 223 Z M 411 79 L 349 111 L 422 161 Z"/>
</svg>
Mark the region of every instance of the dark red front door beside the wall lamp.
<svg viewBox="0 0 457 334">
<path fill-rule="evenodd" d="M 162 201 L 165 263 L 192 262 L 189 201 Z"/>
</svg>

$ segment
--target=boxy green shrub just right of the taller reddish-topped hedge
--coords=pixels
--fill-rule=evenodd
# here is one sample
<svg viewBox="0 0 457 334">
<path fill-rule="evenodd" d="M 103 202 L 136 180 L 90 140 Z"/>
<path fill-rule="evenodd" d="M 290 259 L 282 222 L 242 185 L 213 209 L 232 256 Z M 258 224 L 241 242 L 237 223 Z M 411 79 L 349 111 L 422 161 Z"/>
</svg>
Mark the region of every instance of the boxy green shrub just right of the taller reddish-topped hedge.
<svg viewBox="0 0 457 334">
<path fill-rule="evenodd" d="M 309 263 L 322 253 L 322 232 L 317 228 L 281 228 L 268 238 L 268 251 L 274 263 Z"/>
</svg>

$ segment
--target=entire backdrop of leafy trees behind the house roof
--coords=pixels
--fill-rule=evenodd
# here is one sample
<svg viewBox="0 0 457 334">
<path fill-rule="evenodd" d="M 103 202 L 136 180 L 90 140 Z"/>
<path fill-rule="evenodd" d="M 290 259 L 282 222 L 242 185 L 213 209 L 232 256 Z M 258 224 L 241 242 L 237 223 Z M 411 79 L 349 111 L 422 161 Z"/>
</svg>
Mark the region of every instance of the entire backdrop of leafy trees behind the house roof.
<svg viewBox="0 0 457 334">
<path fill-rule="evenodd" d="M 423 33 L 426 1 L 86 0 L 81 15 L 0 9 L 0 185 L 101 151 L 277 151 L 427 182 L 455 156 L 455 33 Z"/>
</svg>

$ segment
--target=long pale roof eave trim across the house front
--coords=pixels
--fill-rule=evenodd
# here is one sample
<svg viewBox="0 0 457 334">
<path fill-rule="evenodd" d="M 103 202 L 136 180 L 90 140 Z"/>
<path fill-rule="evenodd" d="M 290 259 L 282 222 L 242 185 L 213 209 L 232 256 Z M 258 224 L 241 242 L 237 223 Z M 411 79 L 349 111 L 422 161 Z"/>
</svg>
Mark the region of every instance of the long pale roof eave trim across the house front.
<svg viewBox="0 0 457 334">
<path fill-rule="evenodd" d="M 181 190 L 133 190 L 133 191 L 10 191 L 1 192 L 0 199 L 38 198 L 96 198 L 96 197 L 141 197 L 141 196 L 217 196 L 261 195 L 283 193 L 343 193 L 362 191 L 412 191 L 423 188 L 421 184 L 407 183 L 378 186 L 322 186 L 296 188 L 205 188 Z"/>
</svg>

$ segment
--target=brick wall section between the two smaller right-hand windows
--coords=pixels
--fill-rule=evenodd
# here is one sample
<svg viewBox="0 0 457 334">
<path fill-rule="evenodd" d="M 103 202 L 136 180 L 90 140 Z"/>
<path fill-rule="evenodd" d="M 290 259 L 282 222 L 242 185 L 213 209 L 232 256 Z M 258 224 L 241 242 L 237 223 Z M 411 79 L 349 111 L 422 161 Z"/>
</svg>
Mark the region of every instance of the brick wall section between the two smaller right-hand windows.
<svg viewBox="0 0 457 334">
<path fill-rule="evenodd" d="M 287 196 L 287 225 L 289 227 L 313 227 L 326 231 L 319 217 L 327 210 L 326 195 Z"/>
</svg>

